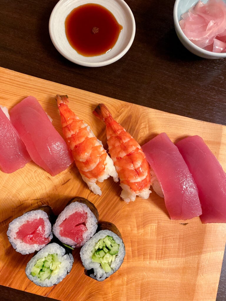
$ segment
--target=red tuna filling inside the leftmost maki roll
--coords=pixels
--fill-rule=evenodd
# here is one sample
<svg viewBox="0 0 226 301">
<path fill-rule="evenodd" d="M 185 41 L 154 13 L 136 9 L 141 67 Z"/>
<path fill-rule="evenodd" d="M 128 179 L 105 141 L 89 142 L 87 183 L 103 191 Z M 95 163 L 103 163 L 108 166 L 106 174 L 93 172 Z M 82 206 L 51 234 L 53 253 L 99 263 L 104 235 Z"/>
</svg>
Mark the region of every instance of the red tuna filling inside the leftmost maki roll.
<svg viewBox="0 0 226 301">
<path fill-rule="evenodd" d="M 45 222 L 43 219 L 34 219 L 27 221 L 20 226 L 16 233 L 16 239 L 21 239 L 24 243 L 32 244 L 48 244 L 50 237 L 45 237 Z"/>
</svg>

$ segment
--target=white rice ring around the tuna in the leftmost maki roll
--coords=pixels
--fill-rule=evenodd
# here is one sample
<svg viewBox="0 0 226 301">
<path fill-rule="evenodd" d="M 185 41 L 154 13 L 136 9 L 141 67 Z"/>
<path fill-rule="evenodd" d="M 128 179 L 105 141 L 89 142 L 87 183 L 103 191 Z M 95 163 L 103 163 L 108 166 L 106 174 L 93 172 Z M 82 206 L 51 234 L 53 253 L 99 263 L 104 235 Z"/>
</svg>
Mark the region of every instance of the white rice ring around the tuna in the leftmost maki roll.
<svg viewBox="0 0 226 301">
<path fill-rule="evenodd" d="M 45 224 L 44 237 L 47 238 L 50 236 L 50 240 L 51 240 L 53 237 L 53 234 L 51 231 L 52 226 L 49 221 L 49 216 L 45 211 L 43 211 L 41 209 L 26 212 L 22 216 L 17 217 L 16 219 L 14 219 L 12 222 L 9 223 L 9 227 L 8 227 L 8 231 L 7 231 L 8 239 L 9 239 L 9 242 L 11 243 L 11 245 L 14 247 L 14 249 L 17 252 L 25 255 L 25 254 L 33 253 L 35 251 L 39 251 L 40 249 L 45 247 L 46 244 L 30 245 L 30 244 L 24 243 L 21 239 L 15 238 L 16 233 L 19 230 L 21 225 L 23 225 L 27 221 L 33 221 L 34 219 L 40 219 L 40 218 L 44 220 L 44 224 Z"/>
</svg>

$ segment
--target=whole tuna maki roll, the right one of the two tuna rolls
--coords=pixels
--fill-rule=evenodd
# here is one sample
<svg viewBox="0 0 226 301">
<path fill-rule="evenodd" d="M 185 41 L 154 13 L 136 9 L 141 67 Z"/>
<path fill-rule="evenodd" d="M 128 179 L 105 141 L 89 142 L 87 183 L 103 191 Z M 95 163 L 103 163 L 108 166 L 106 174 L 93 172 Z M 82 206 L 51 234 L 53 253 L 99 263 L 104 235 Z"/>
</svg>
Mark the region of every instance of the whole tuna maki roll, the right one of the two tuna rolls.
<svg viewBox="0 0 226 301">
<path fill-rule="evenodd" d="M 73 198 L 58 216 L 54 235 L 64 244 L 81 247 L 96 232 L 99 214 L 93 203 L 83 197 Z"/>
</svg>

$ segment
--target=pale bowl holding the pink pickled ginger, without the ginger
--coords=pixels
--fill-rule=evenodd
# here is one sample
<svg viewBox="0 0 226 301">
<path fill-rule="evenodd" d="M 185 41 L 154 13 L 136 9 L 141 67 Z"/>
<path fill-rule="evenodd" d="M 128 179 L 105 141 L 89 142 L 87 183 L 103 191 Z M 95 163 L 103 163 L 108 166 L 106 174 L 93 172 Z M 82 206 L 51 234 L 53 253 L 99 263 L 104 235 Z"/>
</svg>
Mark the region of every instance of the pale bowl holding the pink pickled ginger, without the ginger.
<svg viewBox="0 0 226 301">
<path fill-rule="evenodd" d="M 208 0 L 202 0 L 202 2 L 206 3 Z M 188 11 L 192 6 L 196 5 L 198 0 L 176 0 L 174 4 L 174 27 L 177 33 L 177 36 L 180 42 L 193 54 L 198 55 L 199 57 L 210 58 L 210 59 L 218 59 L 226 57 L 226 53 L 217 53 L 202 49 L 196 46 L 193 42 L 191 42 L 183 33 L 180 28 L 179 21 L 181 20 L 181 15 Z M 225 2 L 225 0 L 224 0 Z"/>
</svg>

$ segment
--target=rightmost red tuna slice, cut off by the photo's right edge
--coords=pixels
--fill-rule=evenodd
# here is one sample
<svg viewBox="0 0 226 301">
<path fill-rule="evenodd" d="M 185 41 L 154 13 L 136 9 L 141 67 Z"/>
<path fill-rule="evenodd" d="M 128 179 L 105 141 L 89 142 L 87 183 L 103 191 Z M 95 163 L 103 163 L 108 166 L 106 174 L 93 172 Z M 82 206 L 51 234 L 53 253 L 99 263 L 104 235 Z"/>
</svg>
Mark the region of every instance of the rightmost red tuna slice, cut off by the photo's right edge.
<svg viewBox="0 0 226 301">
<path fill-rule="evenodd" d="M 196 182 L 202 205 L 202 223 L 226 222 L 226 175 L 209 147 L 199 136 L 177 142 Z"/>
</svg>

